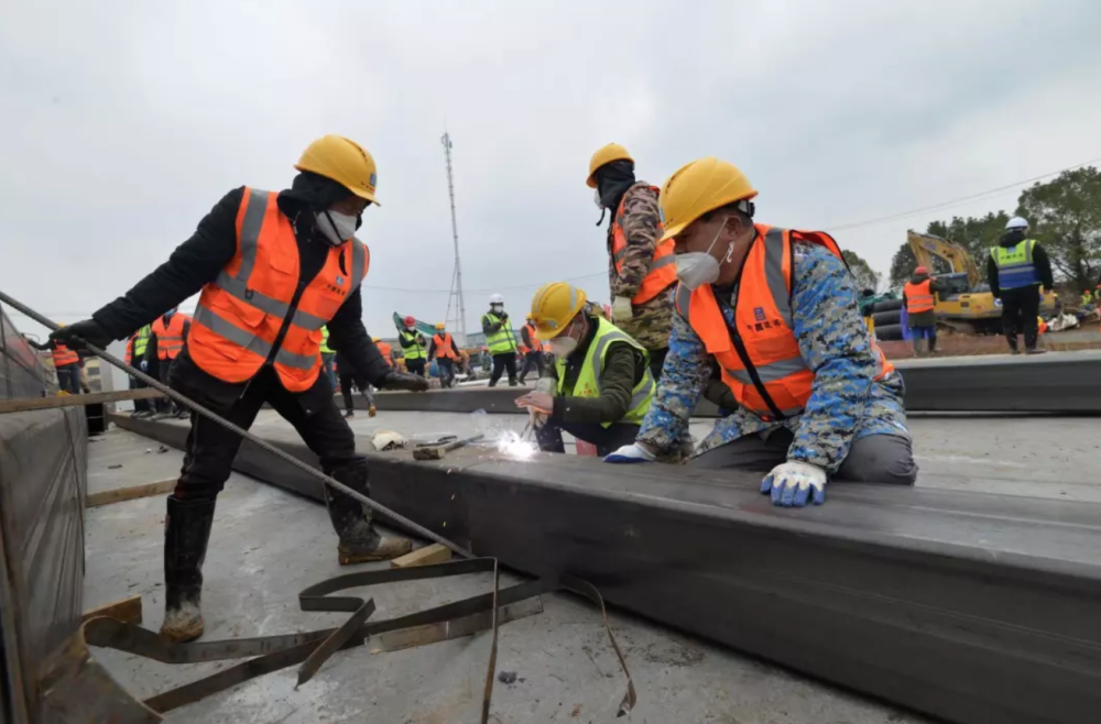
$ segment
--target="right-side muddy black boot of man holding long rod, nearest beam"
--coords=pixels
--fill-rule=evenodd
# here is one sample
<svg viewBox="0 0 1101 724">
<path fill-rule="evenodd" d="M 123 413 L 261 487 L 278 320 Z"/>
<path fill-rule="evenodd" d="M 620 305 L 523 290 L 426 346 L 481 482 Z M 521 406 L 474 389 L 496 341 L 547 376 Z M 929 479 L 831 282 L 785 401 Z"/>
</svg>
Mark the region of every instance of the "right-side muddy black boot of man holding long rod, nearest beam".
<svg viewBox="0 0 1101 724">
<path fill-rule="evenodd" d="M 357 493 L 370 495 L 367 459 L 329 472 L 329 475 Z M 325 504 L 329 508 L 329 519 L 340 537 L 337 555 L 341 566 L 390 560 L 410 552 L 413 544 L 405 538 L 383 538 L 371 525 L 371 508 L 359 501 L 325 486 Z"/>
</svg>

